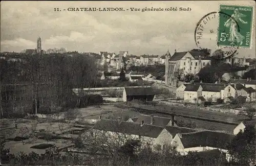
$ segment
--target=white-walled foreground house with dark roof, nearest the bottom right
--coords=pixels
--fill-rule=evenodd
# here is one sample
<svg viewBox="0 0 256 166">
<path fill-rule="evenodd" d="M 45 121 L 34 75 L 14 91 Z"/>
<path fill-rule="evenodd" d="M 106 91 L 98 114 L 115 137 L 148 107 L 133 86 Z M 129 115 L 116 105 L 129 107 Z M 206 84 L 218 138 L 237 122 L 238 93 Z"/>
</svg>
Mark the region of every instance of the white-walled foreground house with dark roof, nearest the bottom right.
<svg viewBox="0 0 256 166">
<path fill-rule="evenodd" d="M 213 149 L 219 149 L 224 153 L 228 153 L 227 145 L 233 138 L 234 135 L 232 134 L 215 131 L 178 133 L 173 138 L 171 144 L 183 155 L 186 155 L 188 152 L 202 152 Z"/>
</svg>

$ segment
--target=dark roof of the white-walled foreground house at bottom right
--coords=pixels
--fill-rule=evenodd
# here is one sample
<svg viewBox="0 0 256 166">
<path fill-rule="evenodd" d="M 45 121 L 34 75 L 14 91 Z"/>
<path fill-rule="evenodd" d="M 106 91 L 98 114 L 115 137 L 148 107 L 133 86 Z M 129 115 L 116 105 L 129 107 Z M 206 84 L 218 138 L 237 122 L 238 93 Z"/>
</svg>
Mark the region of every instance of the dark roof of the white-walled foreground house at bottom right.
<svg viewBox="0 0 256 166">
<path fill-rule="evenodd" d="M 181 142 L 184 148 L 193 147 L 213 147 L 227 149 L 227 144 L 231 142 L 234 135 L 213 132 L 201 131 L 196 133 L 181 134 Z"/>
</svg>

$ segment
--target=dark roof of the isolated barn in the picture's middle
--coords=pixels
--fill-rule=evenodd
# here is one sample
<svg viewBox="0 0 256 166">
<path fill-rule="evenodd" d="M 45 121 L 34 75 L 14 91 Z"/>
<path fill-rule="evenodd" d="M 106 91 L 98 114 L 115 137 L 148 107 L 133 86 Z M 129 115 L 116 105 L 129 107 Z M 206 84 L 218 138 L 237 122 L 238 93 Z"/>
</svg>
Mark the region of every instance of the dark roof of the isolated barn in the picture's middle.
<svg viewBox="0 0 256 166">
<path fill-rule="evenodd" d="M 125 87 L 127 96 L 155 95 L 152 87 Z"/>
</svg>

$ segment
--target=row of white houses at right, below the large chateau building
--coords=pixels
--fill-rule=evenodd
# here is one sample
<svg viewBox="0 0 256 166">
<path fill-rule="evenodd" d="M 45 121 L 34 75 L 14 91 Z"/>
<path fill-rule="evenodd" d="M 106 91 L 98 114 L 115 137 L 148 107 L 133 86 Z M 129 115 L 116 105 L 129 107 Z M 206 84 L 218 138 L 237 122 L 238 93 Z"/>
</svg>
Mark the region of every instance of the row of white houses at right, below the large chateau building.
<svg viewBox="0 0 256 166">
<path fill-rule="evenodd" d="M 231 79 L 228 84 L 188 83 L 176 89 L 176 98 L 189 103 L 201 104 L 205 101 L 224 103 L 238 97 L 244 97 L 246 102 L 256 101 L 256 80 Z"/>
</svg>

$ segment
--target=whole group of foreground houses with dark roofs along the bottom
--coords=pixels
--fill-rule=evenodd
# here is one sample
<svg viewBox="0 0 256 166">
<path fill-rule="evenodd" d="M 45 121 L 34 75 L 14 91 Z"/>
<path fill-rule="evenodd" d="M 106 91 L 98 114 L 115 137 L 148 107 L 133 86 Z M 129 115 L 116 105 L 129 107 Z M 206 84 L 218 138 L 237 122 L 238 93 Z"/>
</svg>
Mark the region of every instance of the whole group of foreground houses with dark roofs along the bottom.
<svg viewBox="0 0 256 166">
<path fill-rule="evenodd" d="M 103 119 L 100 115 L 94 127 L 85 134 L 103 133 L 109 139 L 119 138 L 115 140 L 120 140 L 120 136 L 125 139 L 139 139 L 142 145 L 150 146 L 154 151 L 172 147 L 182 155 L 187 155 L 190 151 L 218 150 L 229 160 L 227 144 L 239 131 L 244 131 L 247 125 L 255 125 L 255 121 L 241 122 L 233 126 L 232 133 L 227 133 L 179 127 L 175 123 L 174 116 L 169 118 L 141 114 L 124 122 Z"/>
</svg>

